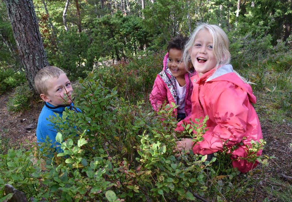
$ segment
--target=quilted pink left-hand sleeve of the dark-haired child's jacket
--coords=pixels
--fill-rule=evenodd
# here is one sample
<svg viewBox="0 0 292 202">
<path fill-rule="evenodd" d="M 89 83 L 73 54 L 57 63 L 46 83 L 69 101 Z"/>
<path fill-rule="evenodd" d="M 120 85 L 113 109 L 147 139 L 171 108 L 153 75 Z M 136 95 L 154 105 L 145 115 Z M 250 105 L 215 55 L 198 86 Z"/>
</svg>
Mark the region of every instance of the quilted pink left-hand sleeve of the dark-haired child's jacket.
<svg viewBox="0 0 292 202">
<path fill-rule="evenodd" d="M 159 75 L 157 75 L 154 81 L 149 100 L 155 111 L 159 111 L 161 109 L 161 105 L 167 100 L 167 90 Z"/>
</svg>

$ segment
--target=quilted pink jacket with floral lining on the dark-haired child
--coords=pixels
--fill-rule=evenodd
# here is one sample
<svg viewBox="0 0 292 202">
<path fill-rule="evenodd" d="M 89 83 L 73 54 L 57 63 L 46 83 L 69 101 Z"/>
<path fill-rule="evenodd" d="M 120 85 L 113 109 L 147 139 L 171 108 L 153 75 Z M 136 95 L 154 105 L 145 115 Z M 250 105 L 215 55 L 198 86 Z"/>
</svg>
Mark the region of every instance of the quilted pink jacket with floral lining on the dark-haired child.
<svg viewBox="0 0 292 202">
<path fill-rule="evenodd" d="M 171 75 L 171 71 L 167 66 L 168 61 L 168 53 L 166 53 L 163 60 L 163 70 L 157 74 L 157 77 L 154 81 L 153 89 L 150 93 L 149 100 L 151 105 L 155 111 L 159 111 L 161 106 L 165 101 L 166 104 L 170 104 L 174 102 L 177 105 L 177 95 L 176 95 L 176 84 L 175 78 Z M 191 76 L 194 73 L 186 73 L 185 74 L 185 83 L 186 83 L 186 97 L 185 97 L 185 114 L 186 117 L 191 115 L 192 103 L 191 103 L 191 94 L 193 89 L 193 84 L 191 82 Z M 177 114 L 177 110 L 174 109 L 175 115 Z M 187 119 L 187 118 L 186 118 Z"/>
</svg>

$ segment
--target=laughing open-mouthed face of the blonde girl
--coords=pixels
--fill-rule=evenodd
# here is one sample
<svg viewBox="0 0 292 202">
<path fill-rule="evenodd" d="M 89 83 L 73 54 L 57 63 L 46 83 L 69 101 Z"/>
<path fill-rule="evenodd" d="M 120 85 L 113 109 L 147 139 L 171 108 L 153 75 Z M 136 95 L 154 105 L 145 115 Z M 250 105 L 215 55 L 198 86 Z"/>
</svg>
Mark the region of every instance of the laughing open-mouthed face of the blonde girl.
<svg viewBox="0 0 292 202">
<path fill-rule="evenodd" d="M 213 69 L 217 64 L 213 50 L 213 37 L 206 29 L 202 29 L 197 33 L 189 53 L 199 77 Z"/>
</svg>

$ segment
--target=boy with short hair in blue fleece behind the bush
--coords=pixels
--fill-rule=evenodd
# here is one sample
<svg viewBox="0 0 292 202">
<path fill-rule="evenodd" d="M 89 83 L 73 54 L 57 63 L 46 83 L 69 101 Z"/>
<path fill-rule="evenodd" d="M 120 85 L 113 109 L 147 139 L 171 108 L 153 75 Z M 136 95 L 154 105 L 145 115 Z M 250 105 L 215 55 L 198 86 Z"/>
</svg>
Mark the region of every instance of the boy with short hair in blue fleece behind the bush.
<svg viewBox="0 0 292 202">
<path fill-rule="evenodd" d="M 71 97 L 73 88 L 64 71 L 54 66 L 41 69 L 34 78 L 34 84 L 41 99 L 45 101 L 45 106 L 39 114 L 36 140 L 38 143 L 45 142 L 48 136 L 52 143 L 51 147 L 57 147 L 55 144 L 57 132 L 53 129 L 49 116 L 56 116 L 54 113 L 57 113 L 62 117 L 65 107 L 74 106 Z M 60 147 L 55 150 L 60 151 Z"/>
</svg>

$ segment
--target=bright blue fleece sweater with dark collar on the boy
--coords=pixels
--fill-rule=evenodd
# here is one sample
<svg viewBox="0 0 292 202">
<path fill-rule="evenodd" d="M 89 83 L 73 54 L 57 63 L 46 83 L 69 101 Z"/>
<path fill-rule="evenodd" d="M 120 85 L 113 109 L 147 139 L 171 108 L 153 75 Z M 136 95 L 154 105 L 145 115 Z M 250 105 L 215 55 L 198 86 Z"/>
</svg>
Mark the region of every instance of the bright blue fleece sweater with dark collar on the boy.
<svg viewBox="0 0 292 202">
<path fill-rule="evenodd" d="M 65 111 L 65 107 L 66 106 L 55 107 L 49 104 L 48 102 L 46 102 L 45 106 L 41 110 L 41 113 L 39 114 L 39 120 L 36 127 L 36 141 L 38 143 L 45 142 L 46 137 L 48 136 L 52 143 L 51 147 L 52 148 L 58 147 L 58 148 L 55 148 L 55 151 L 58 151 L 58 152 L 61 152 L 62 150 L 60 150 L 60 147 L 59 147 L 60 144 L 56 143 L 57 131 L 56 129 L 53 129 L 53 124 L 51 123 L 51 121 L 49 121 L 50 119 L 49 116 L 51 115 L 52 117 L 53 116 L 56 117 L 54 113 L 57 113 L 60 115 L 60 117 L 62 117 L 62 113 Z M 73 102 L 71 103 L 70 107 L 74 107 Z M 77 109 L 77 110 L 79 111 L 80 109 Z M 48 118 L 48 120 L 46 118 Z"/>
</svg>

